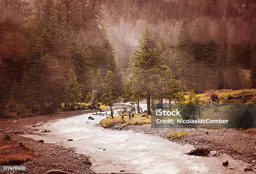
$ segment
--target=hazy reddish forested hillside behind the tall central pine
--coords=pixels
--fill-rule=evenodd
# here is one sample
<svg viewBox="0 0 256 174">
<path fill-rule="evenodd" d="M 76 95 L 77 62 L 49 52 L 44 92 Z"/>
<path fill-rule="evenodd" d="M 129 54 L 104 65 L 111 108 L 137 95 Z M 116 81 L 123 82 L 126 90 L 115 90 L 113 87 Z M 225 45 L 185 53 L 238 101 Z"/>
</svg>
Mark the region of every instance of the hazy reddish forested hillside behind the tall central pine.
<svg viewBox="0 0 256 174">
<path fill-rule="evenodd" d="M 166 43 L 168 66 L 183 90 L 196 92 L 255 87 L 247 71 L 254 63 L 255 7 L 250 0 L 102 2 L 110 42 L 125 78 L 133 62 L 132 50 L 139 44 L 136 38 L 150 25 L 156 39 Z"/>
</svg>

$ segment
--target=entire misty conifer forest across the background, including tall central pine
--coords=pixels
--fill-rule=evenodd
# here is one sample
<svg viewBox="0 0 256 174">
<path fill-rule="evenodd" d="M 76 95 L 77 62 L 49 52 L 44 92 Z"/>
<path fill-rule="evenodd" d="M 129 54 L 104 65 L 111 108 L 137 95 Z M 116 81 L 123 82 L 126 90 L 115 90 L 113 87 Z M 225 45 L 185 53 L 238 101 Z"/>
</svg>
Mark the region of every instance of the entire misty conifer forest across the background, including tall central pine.
<svg viewBox="0 0 256 174">
<path fill-rule="evenodd" d="M 256 2 L 0 0 L 0 114 L 256 87 Z M 141 39 L 138 39 L 141 38 Z M 110 97 L 109 97 L 110 96 Z M 150 111 L 148 111 L 149 113 Z"/>
</svg>

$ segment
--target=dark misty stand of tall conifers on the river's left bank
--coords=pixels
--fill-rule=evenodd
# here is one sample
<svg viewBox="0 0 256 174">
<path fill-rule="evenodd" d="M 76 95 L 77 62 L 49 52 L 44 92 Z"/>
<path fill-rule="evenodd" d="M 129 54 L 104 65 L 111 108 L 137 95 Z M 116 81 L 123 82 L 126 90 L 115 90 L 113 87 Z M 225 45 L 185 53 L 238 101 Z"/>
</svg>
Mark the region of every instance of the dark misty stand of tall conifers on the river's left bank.
<svg viewBox="0 0 256 174">
<path fill-rule="evenodd" d="M 118 78 L 98 0 L 1 0 L 0 17 L 1 83 L 18 89 L 8 107 L 44 114 L 67 103 L 73 110 L 94 79 L 108 70 Z"/>
</svg>

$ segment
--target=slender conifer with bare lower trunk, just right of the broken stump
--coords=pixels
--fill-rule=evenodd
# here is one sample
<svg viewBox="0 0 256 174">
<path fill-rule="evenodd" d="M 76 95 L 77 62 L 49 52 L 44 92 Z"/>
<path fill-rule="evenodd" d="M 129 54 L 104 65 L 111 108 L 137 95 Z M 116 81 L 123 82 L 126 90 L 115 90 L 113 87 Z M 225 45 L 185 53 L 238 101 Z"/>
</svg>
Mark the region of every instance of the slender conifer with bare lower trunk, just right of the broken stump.
<svg viewBox="0 0 256 174">
<path fill-rule="evenodd" d="M 104 88 L 104 94 L 101 96 L 102 103 L 110 106 L 111 117 L 113 117 L 112 106 L 117 97 L 117 82 L 112 71 L 108 71 L 106 77 L 103 80 L 102 86 Z"/>
</svg>

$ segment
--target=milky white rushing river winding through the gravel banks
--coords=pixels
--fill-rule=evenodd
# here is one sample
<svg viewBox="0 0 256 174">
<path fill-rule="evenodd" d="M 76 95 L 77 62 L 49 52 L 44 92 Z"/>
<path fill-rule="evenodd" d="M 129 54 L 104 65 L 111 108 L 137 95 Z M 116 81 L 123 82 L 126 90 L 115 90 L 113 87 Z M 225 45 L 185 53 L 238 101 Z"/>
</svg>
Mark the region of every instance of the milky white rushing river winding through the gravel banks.
<svg viewBox="0 0 256 174">
<path fill-rule="evenodd" d="M 88 120 L 89 116 L 95 120 Z M 97 173 L 112 173 L 120 170 L 143 174 L 242 173 L 246 167 L 242 162 L 226 155 L 196 157 L 184 154 L 193 149 L 191 145 L 182 146 L 152 135 L 94 126 L 104 118 L 84 114 L 59 119 L 41 127 L 51 130 L 47 133 L 49 137 L 33 136 L 33 138 L 76 148 L 78 153 L 91 157 L 92 169 Z M 67 139 L 74 141 L 67 142 Z M 225 160 L 229 162 L 228 167 L 222 166 Z"/>
</svg>

